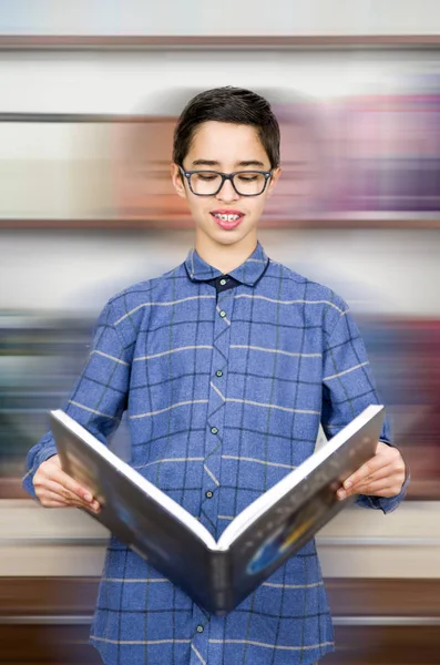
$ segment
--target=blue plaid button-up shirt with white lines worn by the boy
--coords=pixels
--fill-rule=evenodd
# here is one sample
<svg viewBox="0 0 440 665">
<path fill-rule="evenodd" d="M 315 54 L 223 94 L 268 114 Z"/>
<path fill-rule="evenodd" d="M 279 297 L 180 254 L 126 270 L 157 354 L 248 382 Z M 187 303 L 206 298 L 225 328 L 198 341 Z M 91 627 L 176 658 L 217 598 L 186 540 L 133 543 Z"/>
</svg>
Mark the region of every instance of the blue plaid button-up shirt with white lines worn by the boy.
<svg viewBox="0 0 440 665">
<path fill-rule="evenodd" d="M 346 303 L 258 243 L 228 275 L 191 250 L 105 306 L 65 411 L 100 440 L 124 411 L 131 464 L 216 538 L 231 520 L 378 403 Z M 385 424 L 381 440 L 390 442 Z M 48 433 L 24 488 L 57 452 Z M 403 498 L 359 497 L 393 510 Z M 315 541 L 227 616 L 211 616 L 114 536 L 91 643 L 108 665 L 309 665 L 334 649 Z"/>
</svg>

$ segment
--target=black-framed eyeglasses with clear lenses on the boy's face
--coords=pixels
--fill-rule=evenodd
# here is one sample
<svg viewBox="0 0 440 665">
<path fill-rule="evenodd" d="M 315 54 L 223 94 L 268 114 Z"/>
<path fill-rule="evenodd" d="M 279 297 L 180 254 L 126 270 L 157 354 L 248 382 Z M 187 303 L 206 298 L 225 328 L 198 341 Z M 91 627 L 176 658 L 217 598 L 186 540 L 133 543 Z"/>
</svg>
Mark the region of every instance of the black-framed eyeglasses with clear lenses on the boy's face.
<svg viewBox="0 0 440 665">
<path fill-rule="evenodd" d="M 259 196 L 272 176 L 272 171 L 221 173 L 219 171 L 185 171 L 182 166 L 178 168 L 196 196 L 215 196 L 226 180 L 231 181 L 238 196 Z"/>
</svg>

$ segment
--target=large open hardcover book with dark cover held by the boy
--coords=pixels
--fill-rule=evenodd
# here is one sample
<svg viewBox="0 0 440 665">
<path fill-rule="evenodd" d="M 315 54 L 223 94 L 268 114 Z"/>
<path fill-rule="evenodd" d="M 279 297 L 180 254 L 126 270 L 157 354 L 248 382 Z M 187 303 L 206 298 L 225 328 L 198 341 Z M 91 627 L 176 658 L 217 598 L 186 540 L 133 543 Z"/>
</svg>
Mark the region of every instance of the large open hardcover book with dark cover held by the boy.
<svg viewBox="0 0 440 665">
<path fill-rule="evenodd" d="M 370 406 L 243 510 L 218 542 L 196 518 L 63 411 L 51 411 L 63 470 L 101 503 L 89 513 L 208 612 L 226 614 L 303 548 L 347 502 L 336 491 L 377 447 Z"/>
</svg>

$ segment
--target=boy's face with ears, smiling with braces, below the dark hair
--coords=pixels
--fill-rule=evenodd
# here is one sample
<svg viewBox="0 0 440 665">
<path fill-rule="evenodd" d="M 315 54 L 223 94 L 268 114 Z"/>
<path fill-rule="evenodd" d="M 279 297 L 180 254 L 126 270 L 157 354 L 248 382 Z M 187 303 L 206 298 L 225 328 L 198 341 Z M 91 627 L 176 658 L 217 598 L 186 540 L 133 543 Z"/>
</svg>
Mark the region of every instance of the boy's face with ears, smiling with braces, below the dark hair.
<svg viewBox="0 0 440 665">
<path fill-rule="evenodd" d="M 243 165 L 243 163 L 249 163 Z M 205 122 L 198 125 L 183 167 L 185 171 L 270 171 L 269 158 L 258 139 L 256 129 L 249 125 L 225 122 Z M 250 252 L 256 244 L 256 227 L 265 202 L 270 196 L 280 168 L 273 176 L 263 194 L 241 196 L 231 183 L 225 181 L 221 191 L 213 196 L 196 196 L 182 182 L 181 172 L 172 164 L 173 185 L 180 196 L 186 198 L 195 223 L 196 247 L 213 249 L 221 245 L 241 245 Z M 217 219 L 217 214 L 241 214 L 238 223 Z"/>
</svg>

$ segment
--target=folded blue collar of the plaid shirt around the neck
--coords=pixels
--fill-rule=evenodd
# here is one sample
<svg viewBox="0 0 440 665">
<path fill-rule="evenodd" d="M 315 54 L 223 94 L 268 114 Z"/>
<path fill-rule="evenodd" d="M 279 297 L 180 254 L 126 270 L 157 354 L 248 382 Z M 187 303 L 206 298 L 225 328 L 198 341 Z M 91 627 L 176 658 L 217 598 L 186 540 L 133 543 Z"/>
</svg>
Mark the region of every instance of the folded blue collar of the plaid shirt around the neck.
<svg viewBox="0 0 440 665">
<path fill-rule="evenodd" d="M 241 266 L 227 274 L 241 284 L 255 286 L 258 279 L 263 277 L 268 263 L 268 256 L 259 242 L 257 242 L 257 246 L 250 256 Z M 214 279 L 224 274 L 203 260 L 196 249 L 190 250 L 190 254 L 185 259 L 185 268 L 192 282 L 208 282 L 209 279 Z"/>
</svg>

